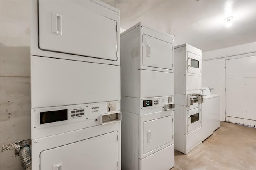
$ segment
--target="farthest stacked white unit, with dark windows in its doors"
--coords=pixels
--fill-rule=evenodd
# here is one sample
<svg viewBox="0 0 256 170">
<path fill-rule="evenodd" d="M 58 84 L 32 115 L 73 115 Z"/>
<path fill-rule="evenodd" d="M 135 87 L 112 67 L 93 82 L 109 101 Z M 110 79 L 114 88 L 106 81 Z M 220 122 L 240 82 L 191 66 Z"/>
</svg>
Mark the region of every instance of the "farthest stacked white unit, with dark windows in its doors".
<svg viewBox="0 0 256 170">
<path fill-rule="evenodd" d="M 187 154 L 202 143 L 202 51 L 174 47 L 175 149 Z"/>
</svg>

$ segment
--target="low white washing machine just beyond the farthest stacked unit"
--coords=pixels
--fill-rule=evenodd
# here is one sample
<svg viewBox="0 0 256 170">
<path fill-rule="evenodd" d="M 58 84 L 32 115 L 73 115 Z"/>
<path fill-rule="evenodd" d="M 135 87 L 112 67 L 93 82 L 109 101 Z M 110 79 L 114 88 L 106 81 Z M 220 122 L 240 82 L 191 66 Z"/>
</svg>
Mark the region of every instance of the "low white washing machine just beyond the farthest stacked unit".
<svg viewBox="0 0 256 170">
<path fill-rule="evenodd" d="M 202 141 L 220 127 L 220 95 L 212 94 L 213 88 L 202 87 Z"/>
</svg>

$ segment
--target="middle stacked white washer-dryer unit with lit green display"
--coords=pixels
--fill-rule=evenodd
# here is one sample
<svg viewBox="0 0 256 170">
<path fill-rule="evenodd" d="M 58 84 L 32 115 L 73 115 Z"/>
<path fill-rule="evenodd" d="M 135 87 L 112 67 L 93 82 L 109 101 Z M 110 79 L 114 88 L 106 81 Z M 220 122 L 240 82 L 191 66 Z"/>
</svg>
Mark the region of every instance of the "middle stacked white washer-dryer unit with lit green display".
<svg viewBox="0 0 256 170">
<path fill-rule="evenodd" d="M 174 167 L 173 36 L 138 23 L 121 34 L 122 170 Z"/>
</svg>

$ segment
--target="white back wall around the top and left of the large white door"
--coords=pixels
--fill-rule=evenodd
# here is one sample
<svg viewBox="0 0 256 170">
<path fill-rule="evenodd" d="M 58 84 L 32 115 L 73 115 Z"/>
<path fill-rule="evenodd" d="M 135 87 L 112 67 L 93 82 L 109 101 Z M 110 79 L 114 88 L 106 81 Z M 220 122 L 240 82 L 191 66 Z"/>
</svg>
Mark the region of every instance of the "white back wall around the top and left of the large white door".
<svg viewBox="0 0 256 170">
<path fill-rule="evenodd" d="M 202 53 L 202 87 L 220 94 L 220 120 L 225 121 L 225 61 L 256 55 L 256 42 Z"/>
</svg>

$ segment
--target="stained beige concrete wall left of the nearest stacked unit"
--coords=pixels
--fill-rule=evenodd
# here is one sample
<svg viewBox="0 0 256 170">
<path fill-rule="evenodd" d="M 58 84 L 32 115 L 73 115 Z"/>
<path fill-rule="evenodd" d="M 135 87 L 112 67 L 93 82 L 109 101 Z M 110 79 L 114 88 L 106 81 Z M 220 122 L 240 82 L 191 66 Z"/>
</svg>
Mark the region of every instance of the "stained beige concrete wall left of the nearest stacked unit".
<svg viewBox="0 0 256 170">
<path fill-rule="evenodd" d="M 30 1 L 0 0 L 0 145 L 30 138 Z M 22 170 L 14 150 L 1 170 Z"/>
</svg>

